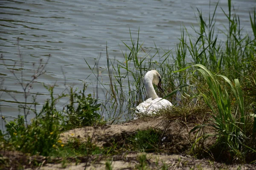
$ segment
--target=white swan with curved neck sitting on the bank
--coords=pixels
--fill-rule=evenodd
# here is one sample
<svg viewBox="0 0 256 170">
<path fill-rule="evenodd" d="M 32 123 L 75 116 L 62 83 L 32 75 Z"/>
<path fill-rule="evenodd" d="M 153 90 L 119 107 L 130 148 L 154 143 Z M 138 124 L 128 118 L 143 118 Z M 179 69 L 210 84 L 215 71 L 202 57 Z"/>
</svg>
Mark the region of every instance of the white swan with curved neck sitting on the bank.
<svg viewBox="0 0 256 170">
<path fill-rule="evenodd" d="M 136 107 L 135 113 L 137 115 L 138 114 L 151 115 L 153 113 L 156 113 L 156 111 L 159 111 L 160 109 L 164 109 L 172 106 L 171 102 L 157 96 L 156 91 L 154 90 L 154 87 L 153 87 L 153 83 L 157 85 L 157 88 L 161 92 L 163 92 L 163 88 L 161 86 L 161 76 L 156 70 L 148 71 L 145 74 L 144 84 L 145 84 L 145 89 L 149 98 L 144 102 L 140 103 L 140 105 Z M 137 119 L 137 117 L 135 117 L 134 119 Z"/>
</svg>

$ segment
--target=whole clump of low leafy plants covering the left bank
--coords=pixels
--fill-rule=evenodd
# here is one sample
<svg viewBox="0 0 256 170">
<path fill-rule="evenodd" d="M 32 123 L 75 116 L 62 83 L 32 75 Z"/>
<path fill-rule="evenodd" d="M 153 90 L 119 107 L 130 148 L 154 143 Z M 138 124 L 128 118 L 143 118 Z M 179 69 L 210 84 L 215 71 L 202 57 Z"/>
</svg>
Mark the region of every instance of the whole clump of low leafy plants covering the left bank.
<svg viewBox="0 0 256 170">
<path fill-rule="evenodd" d="M 92 125 L 96 121 L 100 121 L 100 115 L 96 113 L 96 111 L 99 110 L 100 104 L 97 104 L 97 100 L 93 99 L 90 94 L 87 97 L 84 95 L 85 85 L 83 91 L 80 91 L 79 94 L 73 93 L 73 88 L 70 88 L 70 95 L 62 93 L 57 96 L 55 96 L 53 92 L 54 85 L 44 85 L 44 87 L 49 91 L 50 98 L 46 100 L 41 111 L 36 110 L 37 102 L 35 102 L 35 99 L 33 102 L 35 109 L 32 109 L 32 106 L 29 107 L 26 105 L 26 109 L 35 113 L 35 117 L 31 119 L 30 123 L 26 122 L 26 114 L 29 113 L 29 111 L 26 111 L 25 116 L 18 115 L 17 119 L 10 122 L 2 116 L 7 124 L 6 133 L 2 134 L 2 131 L 0 131 L 0 142 L 4 144 L 5 149 L 15 149 L 33 155 L 41 154 L 43 156 L 49 156 L 53 153 L 58 155 L 63 151 L 63 148 L 65 148 L 66 151 L 69 150 L 69 153 L 65 153 L 70 155 L 72 149 L 64 147 L 65 144 L 62 143 L 59 137 L 62 130 L 76 127 L 78 123 L 73 121 L 72 116 L 64 115 L 56 108 L 58 101 L 66 96 L 70 96 L 70 103 L 72 104 L 74 104 L 73 100 L 76 98 L 78 103 L 77 108 L 74 105 L 67 105 L 67 110 L 70 111 L 69 113 L 75 111 L 75 119 L 81 121 L 79 125 Z M 84 144 L 81 144 L 81 147 L 82 146 L 84 146 Z M 86 150 L 87 154 L 99 152 L 99 149 L 91 144 L 91 142 L 87 142 L 85 148 L 84 150 Z M 59 153 L 56 153 L 56 150 Z M 78 150 L 83 149 L 79 147 Z M 74 151 L 75 154 L 77 152 L 79 151 Z"/>
</svg>

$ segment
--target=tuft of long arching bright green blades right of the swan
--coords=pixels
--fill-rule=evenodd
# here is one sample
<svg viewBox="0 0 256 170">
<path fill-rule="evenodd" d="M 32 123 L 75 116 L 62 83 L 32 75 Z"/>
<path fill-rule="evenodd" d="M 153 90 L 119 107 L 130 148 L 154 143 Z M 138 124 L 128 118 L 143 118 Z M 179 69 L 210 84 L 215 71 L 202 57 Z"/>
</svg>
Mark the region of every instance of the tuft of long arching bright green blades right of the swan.
<svg viewBox="0 0 256 170">
<path fill-rule="evenodd" d="M 195 66 L 199 67 L 197 71 L 201 72 L 206 79 L 209 91 L 212 94 L 212 96 L 208 96 L 201 93 L 205 102 L 213 112 L 212 118 L 214 124 L 209 125 L 214 127 L 217 131 L 218 143 L 222 143 L 225 146 L 223 149 L 233 158 L 236 157 L 240 161 L 244 161 L 244 153 L 247 153 L 247 147 L 245 147 L 247 129 L 245 126 L 244 97 L 239 80 L 235 79 L 235 85 L 233 85 L 227 77 L 220 74 L 213 75 L 203 65 L 196 64 Z M 221 86 L 221 80 L 218 79 L 219 77 L 227 83 L 229 90 Z M 232 94 L 236 100 L 234 111 L 232 111 L 233 107 L 229 93 Z M 215 103 L 212 103 L 212 97 Z M 190 133 L 204 126 L 206 125 L 198 125 L 194 127 Z"/>
</svg>

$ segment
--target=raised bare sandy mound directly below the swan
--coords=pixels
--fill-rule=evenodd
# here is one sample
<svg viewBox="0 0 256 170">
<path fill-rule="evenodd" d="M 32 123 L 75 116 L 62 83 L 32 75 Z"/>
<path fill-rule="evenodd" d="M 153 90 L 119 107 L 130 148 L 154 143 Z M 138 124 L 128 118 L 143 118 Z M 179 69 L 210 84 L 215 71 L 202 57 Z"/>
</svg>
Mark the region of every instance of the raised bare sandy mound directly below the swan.
<svg viewBox="0 0 256 170">
<path fill-rule="evenodd" d="M 61 140 L 67 142 L 72 138 L 86 141 L 88 137 L 98 146 L 108 146 L 111 142 L 121 142 L 126 136 L 132 135 L 136 130 L 157 128 L 163 131 L 163 147 L 172 148 L 172 153 L 182 153 L 191 146 L 188 139 L 189 130 L 193 124 L 180 121 L 169 121 L 164 117 L 146 117 L 132 120 L 119 125 L 106 125 L 102 127 L 82 127 L 62 133 Z M 171 147 L 171 148 L 170 148 Z"/>
</svg>

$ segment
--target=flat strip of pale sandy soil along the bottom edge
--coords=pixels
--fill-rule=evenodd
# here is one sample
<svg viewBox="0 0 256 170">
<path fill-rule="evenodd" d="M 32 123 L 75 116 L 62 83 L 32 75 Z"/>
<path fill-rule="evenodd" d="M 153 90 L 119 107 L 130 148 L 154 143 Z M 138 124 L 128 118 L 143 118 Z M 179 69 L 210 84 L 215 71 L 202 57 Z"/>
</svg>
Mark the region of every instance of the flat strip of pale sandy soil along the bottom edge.
<svg viewBox="0 0 256 170">
<path fill-rule="evenodd" d="M 113 156 L 111 158 L 111 166 L 113 170 L 134 170 L 140 169 L 138 165 L 138 156 L 146 153 L 130 153 L 124 156 Z M 147 153 L 147 161 L 144 167 L 145 170 L 161 170 L 163 166 L 168 170 L 215 170 L 215 169 L 227 169 L 227 170 L 255 170 L 254 165 L 225 165 L 217 162 L 211 162 L 208 160 L 200 159 L 196 160 L 190 156 L 182 156 L 177 154 L 167 155 L 167 154 L 153 154 Z M 97 156 L 93 156 L 94 158 Z M 99 161 L 91 160 L 86 163 L 69 163 L 67 167 L 62 168 L 62 170 L 106 170 L 106 161 L 110 158 L 100 159 Z M 60 170 L 61 164 L 46 164 L 46 166 L 41 167 L 42 170 Z"/>
</svg>

